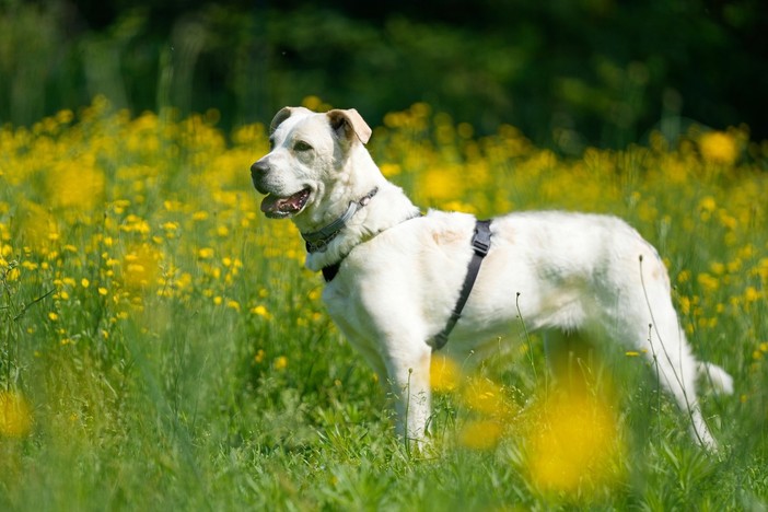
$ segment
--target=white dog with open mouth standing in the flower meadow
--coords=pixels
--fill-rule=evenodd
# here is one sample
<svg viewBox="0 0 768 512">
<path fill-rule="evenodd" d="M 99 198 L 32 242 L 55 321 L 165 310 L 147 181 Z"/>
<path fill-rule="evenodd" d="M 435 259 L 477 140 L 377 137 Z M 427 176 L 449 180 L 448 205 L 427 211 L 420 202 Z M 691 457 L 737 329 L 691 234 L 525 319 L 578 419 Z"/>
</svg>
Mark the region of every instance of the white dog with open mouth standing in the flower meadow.
<svg viewBox="0 0 768 512">
<path fill-rule="evenodd" d="M 717 446 L 696 379 L 703 372 L 731 393 L 732 377 L 695 359 L 666 268 L 637 231 L 615 217 L 558 211 L 485 224 L 461 212 L 421 214 L 374 163 L 371 133 L 354 109 L 282 108 L 251 176 L 266 195 L 261 211 L 302 233 L 334 322 L 392 386 L 402 435 L 428 434 L 435 350 L 465 360 L 539 330 L 548 353 L 580 336 L 644 354 L 694 439 Z"/>
</svg>

